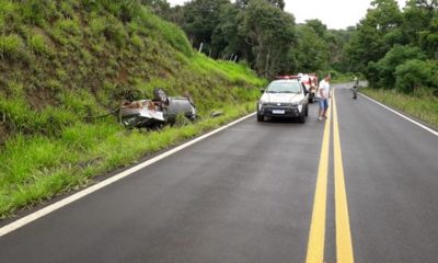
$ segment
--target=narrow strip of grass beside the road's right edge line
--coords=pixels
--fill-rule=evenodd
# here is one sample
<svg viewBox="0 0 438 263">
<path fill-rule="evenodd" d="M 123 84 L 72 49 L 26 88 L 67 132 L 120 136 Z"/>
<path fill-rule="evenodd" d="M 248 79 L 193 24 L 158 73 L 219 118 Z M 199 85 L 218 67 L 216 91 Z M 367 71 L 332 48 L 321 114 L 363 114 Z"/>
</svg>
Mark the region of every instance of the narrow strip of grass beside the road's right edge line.
<svg viewBox="0 0 438 263">
<path fill-rule="evenodd" d="M 414 116 L 436 128 L 438 128 L 438 98 L 431 92 L 423 92 L 417 95 L 406 95 L 391 90 L 361 89 L 361 92 L 370 98 L 382 102 L 395 110 Z"/>
</svg>

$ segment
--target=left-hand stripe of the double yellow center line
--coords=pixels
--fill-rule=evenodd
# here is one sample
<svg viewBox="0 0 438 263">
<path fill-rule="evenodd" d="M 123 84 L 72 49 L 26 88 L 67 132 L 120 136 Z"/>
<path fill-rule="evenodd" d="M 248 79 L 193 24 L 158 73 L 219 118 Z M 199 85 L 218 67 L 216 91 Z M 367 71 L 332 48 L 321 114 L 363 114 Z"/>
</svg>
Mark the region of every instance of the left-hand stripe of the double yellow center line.
<svg viewBox="0 0 438 263">
<path fill-rule="evenodd" d="M 331 113 L 328 112 L 328 119 Z M 324 261 L 325 210 L 327 199 L 327 170 L 330 148 L 330 122 L 325 122 L 322 139 L 320 165 L 318 169 L 316 188 L 313 201 L 312 221 L 310 225 L 307 263 Z"/>
</svg>

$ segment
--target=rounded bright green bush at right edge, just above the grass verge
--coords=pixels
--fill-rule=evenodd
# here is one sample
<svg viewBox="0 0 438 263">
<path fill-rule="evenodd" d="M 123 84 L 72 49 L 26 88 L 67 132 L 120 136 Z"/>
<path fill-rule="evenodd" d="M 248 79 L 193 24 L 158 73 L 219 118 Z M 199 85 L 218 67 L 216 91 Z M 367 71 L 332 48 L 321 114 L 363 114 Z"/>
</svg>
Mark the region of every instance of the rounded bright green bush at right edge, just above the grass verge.
<svg viewBox="0 0 438 263">
<path fill-rule="evenodd" d="M 436 61 L 407 60 L 396 67 L 396 89 L 411 93 L 419 88 L 438 89 L 438 65 Z"/>
</svg>

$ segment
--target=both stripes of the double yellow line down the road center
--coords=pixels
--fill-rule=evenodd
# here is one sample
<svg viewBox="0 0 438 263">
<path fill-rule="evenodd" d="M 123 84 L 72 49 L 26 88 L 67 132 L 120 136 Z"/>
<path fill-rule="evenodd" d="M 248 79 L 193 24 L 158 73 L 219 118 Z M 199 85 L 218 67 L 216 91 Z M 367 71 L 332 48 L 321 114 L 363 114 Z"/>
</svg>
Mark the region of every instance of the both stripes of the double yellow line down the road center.
<svg viewBox="0 0 438 263">
<path fill-rule="evenodd" d="M 330 157 L 330 134 L 333 119 L 333 148 L 334 148 L 334 185 L 335 185 L 335 220 L 336 220 L 336 261 L 338 263 L 353 263 L 353 244 L 349 227 L 347 194 L 345 190 L 344 167 L 337 122 L 336 99 L 333 92 L 333 118 L 328 112 L 325 122 L 324 136 L 321 147 L 320 165 L 318 169 L 316 190 L 314 195 L 312 221 L 310 225 L 307 263 L 324 262 L 325 221 L 327 203 L 327 178 Z"/>
</svg>

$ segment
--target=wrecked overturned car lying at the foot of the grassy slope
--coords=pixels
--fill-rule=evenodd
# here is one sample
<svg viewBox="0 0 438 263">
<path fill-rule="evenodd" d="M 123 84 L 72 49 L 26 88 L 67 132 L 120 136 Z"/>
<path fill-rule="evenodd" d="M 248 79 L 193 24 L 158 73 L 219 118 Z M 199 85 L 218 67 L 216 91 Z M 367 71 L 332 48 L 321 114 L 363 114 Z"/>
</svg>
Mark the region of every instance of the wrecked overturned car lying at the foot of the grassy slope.
<svg viewBox="0 0 438 263">
<path fill-rule="evenodd" d="M 195 121 L 196 106 L 189 96 L 168 96 L 162 89 L 153 91 L 152 100 L 125 101 L 119 111 L 120 122 L 137 128 L 173 124 L 177 115 Z"/>
</svg>

